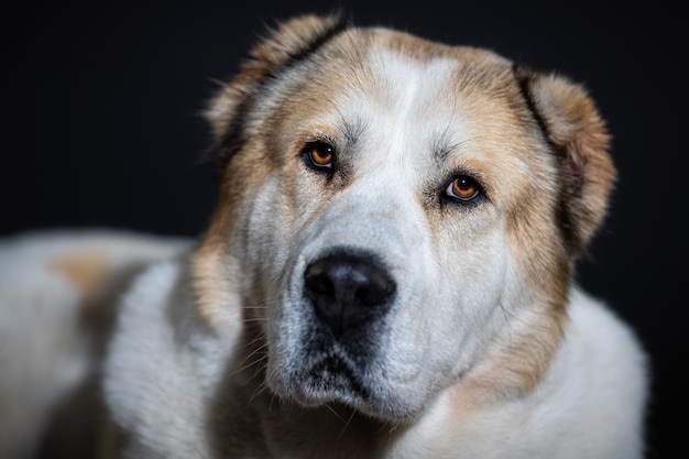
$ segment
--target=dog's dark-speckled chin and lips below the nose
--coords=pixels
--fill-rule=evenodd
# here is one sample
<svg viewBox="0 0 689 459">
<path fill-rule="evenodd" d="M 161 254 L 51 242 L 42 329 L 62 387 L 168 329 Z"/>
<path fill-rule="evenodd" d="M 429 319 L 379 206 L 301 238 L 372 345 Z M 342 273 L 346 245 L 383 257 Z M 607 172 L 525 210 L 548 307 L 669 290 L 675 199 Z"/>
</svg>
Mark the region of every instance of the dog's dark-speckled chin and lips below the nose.
<svg viewBox="0 0 689 459">
<path fill-rule="evenodd" d="M 289 381 L 278 384 L 274 392 L 304 407 L 340 404 L 393 423 L 413 418 L 422 407 L 422 404 L 414 405 L 408 397 L 391 390 L 367 384 L 344 360 L 337 357 L 325 358 L 310 368 L 293 373 Z"/>
</svg>

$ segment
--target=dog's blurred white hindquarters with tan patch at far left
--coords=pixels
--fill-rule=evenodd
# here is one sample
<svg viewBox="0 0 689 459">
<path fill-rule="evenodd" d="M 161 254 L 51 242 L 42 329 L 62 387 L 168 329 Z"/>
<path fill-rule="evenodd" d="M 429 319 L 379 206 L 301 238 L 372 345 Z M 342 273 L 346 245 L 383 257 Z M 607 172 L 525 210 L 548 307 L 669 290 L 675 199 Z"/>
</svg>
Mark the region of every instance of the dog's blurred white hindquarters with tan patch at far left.
<svg viewBox="0 0 689 459">
<path fill-rule="evenodd" d="M 120 295 L 149 263 L 190 245 L 99 229 L 0 240 L 0 457 L 30 457 L 44 435 L 57 439 L 50 433 L 66 427 L 63 411 L 97 373 Z"/>
</svg>

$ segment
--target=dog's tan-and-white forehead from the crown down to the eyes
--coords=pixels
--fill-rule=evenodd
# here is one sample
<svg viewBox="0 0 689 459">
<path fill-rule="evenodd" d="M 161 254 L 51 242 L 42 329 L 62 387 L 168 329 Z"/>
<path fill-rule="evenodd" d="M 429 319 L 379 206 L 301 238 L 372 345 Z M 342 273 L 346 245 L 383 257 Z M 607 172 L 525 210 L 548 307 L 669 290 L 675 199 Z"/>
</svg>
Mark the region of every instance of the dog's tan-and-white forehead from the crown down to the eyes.
<svg viewBox="0 0 689 459">
<path fill-rule="evenodd" d="M 459 157 L 491 164 L 496 175 L 495 164 L 527 172 L 527 152 L 542 141 L 512 64 L 490 51 L 365 30 L 337 40 L 305 68 L 281 111 L 293 121 L 288 132 L 304 131 L 299 139 L 324 130 L 385 150 L 389 160 L 403 155 L 412 167 Z"/>
</svg>

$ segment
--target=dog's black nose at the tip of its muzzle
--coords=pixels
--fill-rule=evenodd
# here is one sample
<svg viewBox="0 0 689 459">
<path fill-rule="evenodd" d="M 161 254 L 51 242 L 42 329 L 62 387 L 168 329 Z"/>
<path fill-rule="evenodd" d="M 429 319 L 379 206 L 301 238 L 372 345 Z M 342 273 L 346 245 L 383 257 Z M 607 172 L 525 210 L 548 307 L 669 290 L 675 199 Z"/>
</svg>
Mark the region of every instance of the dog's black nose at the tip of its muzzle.
<svg viewBox="0 0 689 459">
<path fill-rule="evenodd" d="M 394 293 L 395 282 L 372 256 L 332 253 L 304 272 L 304 295 L 337 335 L 384 314 Z"/>
</svg>

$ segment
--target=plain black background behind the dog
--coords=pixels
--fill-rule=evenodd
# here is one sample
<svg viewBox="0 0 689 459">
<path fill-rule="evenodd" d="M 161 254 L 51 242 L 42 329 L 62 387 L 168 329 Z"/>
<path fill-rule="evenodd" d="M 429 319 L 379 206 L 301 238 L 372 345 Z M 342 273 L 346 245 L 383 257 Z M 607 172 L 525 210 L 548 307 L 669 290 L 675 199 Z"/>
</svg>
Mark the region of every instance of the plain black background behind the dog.
<svg viewBox="0 0 689 459">
<path fill-rule="evenodd" d="M 486 46 L 583 83 L 608 119 L 621 178 L 579 277 L 648 350 L 648 457 L 672 457 L 686 449 L 689 391 L 686 24 L 663 3 L 632 4 L 13 3 L 2 21 L 0 236 L 56 227 L 199 234 L 217 186 L 200 113 L 214 80 L 275 20 L 341 6 L 364 25 Z"/>
</svg>

